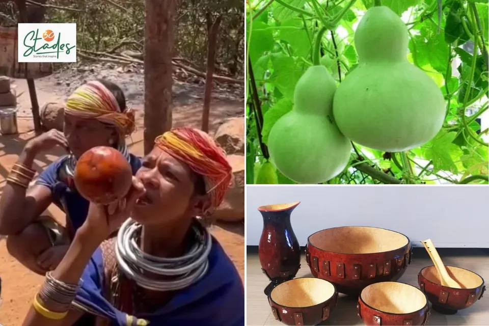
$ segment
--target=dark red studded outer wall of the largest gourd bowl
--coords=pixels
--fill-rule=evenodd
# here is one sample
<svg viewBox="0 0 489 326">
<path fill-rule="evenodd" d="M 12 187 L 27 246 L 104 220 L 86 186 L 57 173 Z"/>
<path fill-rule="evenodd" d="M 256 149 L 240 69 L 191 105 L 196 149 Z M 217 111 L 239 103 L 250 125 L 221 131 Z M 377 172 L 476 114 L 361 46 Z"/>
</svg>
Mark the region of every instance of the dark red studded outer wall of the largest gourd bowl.
<svg viewBox="0 0 489 326">
<path fill-rule="evenodd" d="M 398 280 L 412 259 L 408 237 L 405 246 L 396 250 L 370 254 L 341 254 L 314 247 L 310 242 L 311 236 L 306 246 L 306 262 L 312 275 L 332 282 L 338 292 L 347 295 L 359 295 L 366 286 L 373 283 Z"/>
</svg>

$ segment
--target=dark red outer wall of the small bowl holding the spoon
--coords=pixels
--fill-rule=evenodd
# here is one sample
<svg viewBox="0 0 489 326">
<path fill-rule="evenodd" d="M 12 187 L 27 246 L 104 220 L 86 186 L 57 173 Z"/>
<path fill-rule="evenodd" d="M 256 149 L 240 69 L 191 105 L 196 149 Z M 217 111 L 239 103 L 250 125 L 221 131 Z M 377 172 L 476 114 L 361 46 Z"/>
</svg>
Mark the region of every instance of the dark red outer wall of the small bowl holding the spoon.
<svg viewBox="0 0 489 326">
<path fill-rule="evenodd" d="M 452 266 L 446 266 L 448 268 Z M 459 268 L 459 267 L 455 267 Z M 436 269 L 434 266 L 427 266 L 421 269 L 418 274 L 418 284 L 421 289 L 426 294 L 429 302 L 432 305 L 432 309 L 442 314 L 453 315 L 457 313 L 458 310 L 471 307 L 478 300 L 482 298 L 485 291 L 484 280 L 482 277 L 482 283 L 475 288 L 470 289 L 456 289 L 448 286 L 443 286 L 438 283 L 434 283 L 428 280 L 424 271 L 428 269 Z M 459 268 L 464 269 L 464 268 Z M 468 272 L 475 274 L 474 272 L 465 269 Z M 477 275 L 477 274 L 475 274 Z"/>
</svg>

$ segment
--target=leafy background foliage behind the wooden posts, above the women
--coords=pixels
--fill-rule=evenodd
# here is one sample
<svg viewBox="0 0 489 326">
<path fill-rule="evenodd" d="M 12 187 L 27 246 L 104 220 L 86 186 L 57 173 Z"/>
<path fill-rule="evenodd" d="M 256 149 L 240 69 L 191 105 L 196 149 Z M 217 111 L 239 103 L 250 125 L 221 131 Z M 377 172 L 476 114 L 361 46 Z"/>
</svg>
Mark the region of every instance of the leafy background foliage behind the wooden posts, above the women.
<svg viewBox="0 0 489 326">
<path fill-rule="evenodd" d="M 108 51 L 126 41 L 121 49 L 144 51 L 144 0 L 48 0 L 46 22 L 75 22 L 80 49 Z M 29 9 L 29 8 L 28 8 Z M 42 16 L 42 13 L 41 13 Z M 226 73 L 244 73 L 244 8 L 241 1 L 180 1 L 175 13 L 175 56 L 193 62 L 201 70 L 207 62 L 207 28 L 222 16 L 216 64 Z M 14 2 L 0 4 L 0 25 L 14 25 L 17 9 Z"/>
</svg>

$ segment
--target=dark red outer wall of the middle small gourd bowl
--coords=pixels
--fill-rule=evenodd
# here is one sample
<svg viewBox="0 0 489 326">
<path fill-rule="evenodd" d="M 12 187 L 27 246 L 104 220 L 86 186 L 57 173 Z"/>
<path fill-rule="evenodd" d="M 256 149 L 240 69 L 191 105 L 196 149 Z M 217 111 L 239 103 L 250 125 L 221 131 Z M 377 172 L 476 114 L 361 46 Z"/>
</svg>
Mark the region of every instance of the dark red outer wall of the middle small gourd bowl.
<svg viewBox="0 0 489 326">
<path fill-rule="evenodd" d="M 383 311 L 378 311 L 367 305 L 362 297 L 359 296 L 357 304 L 357 315 L 363 320 L 367 326 L 383 326 L 383 325 L 406 325 L 406 326 L 422 326 L 426 324 L 428 319 L 428 302 L 426 305 L 415 312 L 409 314 L 393 314 Z"/>
</svg>

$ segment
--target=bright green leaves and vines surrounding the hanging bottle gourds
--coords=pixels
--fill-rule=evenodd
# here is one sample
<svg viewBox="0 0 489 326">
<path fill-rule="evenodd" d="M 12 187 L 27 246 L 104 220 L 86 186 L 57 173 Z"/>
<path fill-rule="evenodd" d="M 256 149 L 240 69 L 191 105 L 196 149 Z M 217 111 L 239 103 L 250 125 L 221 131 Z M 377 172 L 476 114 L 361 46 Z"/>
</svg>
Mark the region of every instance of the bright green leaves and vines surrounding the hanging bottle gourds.
<svg viewBox="0 0 489 326">
<path fill-rule="evenodd" d="M 256 182 L 253 175 L 268 161 L 267 151 L 263 153 L 268 133 L 291 110 L 295 84 L 313 64 L 318 31 L 323 26 L 330 30 L 321 40 L 320 55 L 333 58 L 329 69 L 341 83 L 358 64 L 356 25 L 375 2 L 276 0 L 270 5 L 256 0 L 248 4 L 247 167 L 254 164 L 254 171 L 248 170 L 252 175 L 248 183 Z M 439 8 L 438 3 L 382 0 L 408 26 L 408 60 L 426 72 L 445 96 L 442 130 L 428 143 L 404 153 L 354 144 L 349 165 L 328 183 L 487 183 L 488 145 L 483 140 L 487 130 L 481 130 L 479 117 L 488 108 L 488 5 L 443 0 Z M 293 183 L 276 173 L 278 183 Z"/>
</svg>

